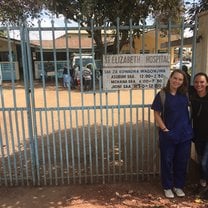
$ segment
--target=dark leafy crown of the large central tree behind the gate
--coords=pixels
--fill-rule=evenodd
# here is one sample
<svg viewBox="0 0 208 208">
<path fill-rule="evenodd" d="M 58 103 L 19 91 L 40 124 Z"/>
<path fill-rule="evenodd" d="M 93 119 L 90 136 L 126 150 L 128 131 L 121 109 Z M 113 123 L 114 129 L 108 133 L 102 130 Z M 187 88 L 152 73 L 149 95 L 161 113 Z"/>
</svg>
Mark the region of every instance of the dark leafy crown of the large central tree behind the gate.
<svg viewBox="0 0 208 208">
<path fill-rule="evenodd" d="M 141 26 L 145 23 L 148 15 L 160 17 L 161 20 L 162 17 L 166 17 L 167 19 L 167 16 L 176 20 L 178 19 L 178 14 L 181 13 L 181 0 L 46 0 L 44 3 L 49 10 L 54 11 L 56 14 L 63 14 L 67 19 L 74 20 L 82 26 L 88 27 L 91 26 L 92 19 L 93 27 L 101 27 L 104 24 L 105 26 L 116 27 L 116 17 L 119 17 L 120 26 L 129 26 L 130 19 L 132 20 L 132 26 Z M 113 53 L 117 50 L 118 37 L 120 48 L 129 42 L 129 30 L 119 30 L 119 34 L 115 31 L 112 47 Z M 88 33 L 91 35 L 90 30 L 88 30 Z M 133 37 L 140 34 L 141 30 L 138 27 L 133 29 Z M 103 54 L 104 49 L 101 35 L 101 29 L 94 31 L 94 40 L 99 49 L 100 56 Z"/>
</svg>

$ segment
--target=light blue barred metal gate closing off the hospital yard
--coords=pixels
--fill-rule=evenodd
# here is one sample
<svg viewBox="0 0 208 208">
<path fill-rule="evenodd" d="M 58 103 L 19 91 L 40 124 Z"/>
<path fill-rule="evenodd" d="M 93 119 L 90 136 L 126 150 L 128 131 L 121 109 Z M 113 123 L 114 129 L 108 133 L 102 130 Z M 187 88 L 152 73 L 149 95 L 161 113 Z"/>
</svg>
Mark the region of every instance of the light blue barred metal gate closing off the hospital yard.
<svg viewBox="0 0 208 208">
<path fill-rule="evenodd" d="M 196 34 L 186 43 L 184 31 L 195 31 L 194 25 L 117 24 L 116 28 L 101 28 L 104 54 L 113 53 L 112 38 L 117 38 L 117 54 L 133 53 L 139 42 L 135 53 L 166 52 L 173 60 L 175 47 L 181 67 L 183 49 L 189 47 L 193 73 Z M 0 29 L 7 31 L 4 52 L 8 55 L 7 61 L 0 62 L 1 186 L 115 183 L 159 174 L 157 129 L 150 110 L 157 90 L 103 90 L 102 60 L 96 58 L 93 41 L 99 28 L 55 27 L 52 21 L 51 27 L 41 27 L 39 22 L 33 28 Z M 134 29 L 142 31 L 138 41 L 131 33 Z M 174 39 L 176 29 L 179 35 Z M 127 46 L 121 49 L 122 30 L 130 32 Z M 113 31 L 117 31 L 116 37 Z M 12 37 L 14 32 L 19 40 Z M 56 37 L 57 32 L 62 32 L 62 38 Z M 34 34 L 35 41 L 31 39 Z M 44 40 L 46 34 L 51 35 L 50 41 Z M 85 45 L 86 35 L 90 47 Z M 161 43 L 162 35 L 166 41 Z M 152 41 L 151 46 L 147 40 Z M 73 48 L 74 42 L 77 48 Z M 63 68 L 70 71 L 75 54 L 81 68 L 86 54 L 96 63 L 88 91 L 82 79 L 80 85 L 63 87 Z M 52 70 L 47 71 L 48 64 L 53 65 Z M 7 74 L 6 80 L 8 71 L 10 79 Z"/>
</svg>

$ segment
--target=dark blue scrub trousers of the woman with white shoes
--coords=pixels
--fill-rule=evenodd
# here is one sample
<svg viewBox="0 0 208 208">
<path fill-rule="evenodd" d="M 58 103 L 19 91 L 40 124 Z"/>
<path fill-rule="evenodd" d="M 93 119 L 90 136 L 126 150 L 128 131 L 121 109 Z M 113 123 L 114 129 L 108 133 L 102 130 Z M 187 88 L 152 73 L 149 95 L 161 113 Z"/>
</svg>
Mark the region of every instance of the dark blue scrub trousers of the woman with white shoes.
<svg viewBox="0 0 208 208">
<path fill-rule="evenodd" d="M 184 187 L 190 151 L 190 140 L 174 144 L 169 139 L 160 139 L 161 181 L 163 189 Z"/>
</svg>

